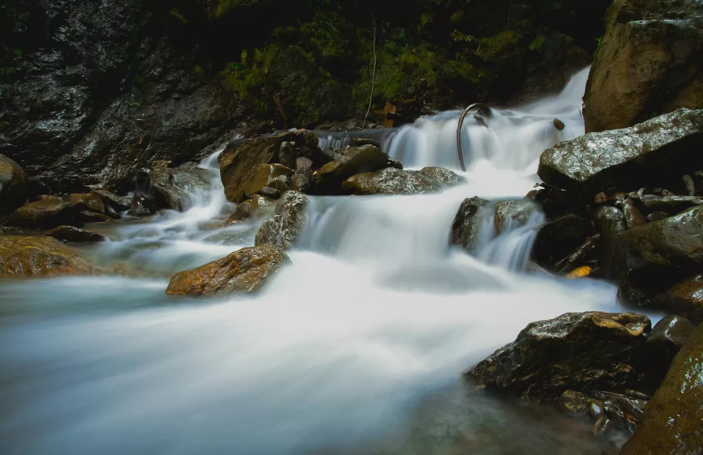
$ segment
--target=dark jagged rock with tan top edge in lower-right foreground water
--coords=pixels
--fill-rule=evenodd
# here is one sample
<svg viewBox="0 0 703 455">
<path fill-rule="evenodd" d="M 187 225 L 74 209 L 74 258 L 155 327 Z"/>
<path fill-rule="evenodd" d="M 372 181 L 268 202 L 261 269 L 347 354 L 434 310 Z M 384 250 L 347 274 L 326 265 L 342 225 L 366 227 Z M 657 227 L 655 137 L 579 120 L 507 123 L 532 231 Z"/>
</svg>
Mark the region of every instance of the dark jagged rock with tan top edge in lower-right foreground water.
<svg viewBox="0 0 703 455">
<path fill-rule="evenodd" d="M 643 314 L 603 312 L 529 323 L 464 378 L 479 388 L 530 399 L 556 399 L 569 389 L 631 386 L 640 380 L 636 357 L 650 324 Z"/>
</svg>

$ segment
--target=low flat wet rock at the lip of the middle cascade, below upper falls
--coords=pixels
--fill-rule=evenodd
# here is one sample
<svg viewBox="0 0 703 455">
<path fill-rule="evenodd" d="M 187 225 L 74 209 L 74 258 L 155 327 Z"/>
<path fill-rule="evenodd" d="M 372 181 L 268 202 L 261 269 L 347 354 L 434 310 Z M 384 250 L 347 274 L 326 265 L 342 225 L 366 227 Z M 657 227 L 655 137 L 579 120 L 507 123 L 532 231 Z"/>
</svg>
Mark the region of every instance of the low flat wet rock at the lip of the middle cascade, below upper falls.
<svg viewBox="0 0 703 455">
<path fill-rule="evenodd" d="M 439 191 L 441 184 L 419 172 L 401 171 L 387 167 L 376 172 L 356 174 L 345 180 L 342 192 L 346 194 L 420 194 Z"/>
</svg>

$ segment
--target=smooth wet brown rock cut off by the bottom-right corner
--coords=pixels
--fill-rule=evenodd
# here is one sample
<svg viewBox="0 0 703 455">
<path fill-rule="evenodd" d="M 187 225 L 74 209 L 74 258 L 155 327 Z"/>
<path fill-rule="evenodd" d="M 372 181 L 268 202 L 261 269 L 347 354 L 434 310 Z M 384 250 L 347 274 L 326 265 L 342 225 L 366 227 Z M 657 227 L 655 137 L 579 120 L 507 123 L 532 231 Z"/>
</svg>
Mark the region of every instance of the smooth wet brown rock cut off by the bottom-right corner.
<svg viewBox="0 0 703 455">
<path fill-rule="evenodd" d="M 703 447 L 703 324 L 676 354 L 621 455 L 697 454 Z"/>
</svg>

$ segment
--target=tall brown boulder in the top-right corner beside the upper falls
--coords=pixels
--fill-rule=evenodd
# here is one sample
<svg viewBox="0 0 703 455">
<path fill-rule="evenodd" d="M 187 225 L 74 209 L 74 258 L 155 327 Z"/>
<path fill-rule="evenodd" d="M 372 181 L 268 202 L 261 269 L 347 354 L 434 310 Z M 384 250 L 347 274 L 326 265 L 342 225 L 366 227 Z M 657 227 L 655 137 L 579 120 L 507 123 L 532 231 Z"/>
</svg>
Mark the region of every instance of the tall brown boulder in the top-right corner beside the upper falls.
<svg viewBox="0 0 703 455">
<path fill-rule="evenodd" d="M 703 108 L 703 5 L 615 0 L 583 101 L 587 133 Z"/>
</svg>

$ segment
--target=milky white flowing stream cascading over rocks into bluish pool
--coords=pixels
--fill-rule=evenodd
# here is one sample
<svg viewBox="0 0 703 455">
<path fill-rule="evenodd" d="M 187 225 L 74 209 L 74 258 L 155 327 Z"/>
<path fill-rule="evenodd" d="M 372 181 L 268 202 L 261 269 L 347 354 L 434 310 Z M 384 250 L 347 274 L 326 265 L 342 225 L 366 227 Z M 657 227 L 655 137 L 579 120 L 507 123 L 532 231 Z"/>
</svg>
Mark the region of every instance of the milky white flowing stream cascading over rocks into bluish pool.
<svg viewBox="0 0 703 455">
<path fill-rule="evenodd" d="M 89 226 L 111 241 L 85 252 L 127 276 L 0 281 L 0 453 L 600 454 L 588 422 L 459 375 L 530 321 L 621 310 L 614 288 L 524 273 L 538 212 L 482 229 L 476 257 L 448 245 L 463 198 L 522 198 L 539 154 L 583 134 L 587 75 L 487 126 L 469 115 L 463 185 L 311 197 L 293 264 L 259 295 L 164 293 L 176 271 L 252 245 L 262 221 L 222 227 L 234 206 L 217 155 L 188 211 Z M 455 169 L 458 116 L 396 129 L 384 148 L 406 169 Z"/>
</svg>

